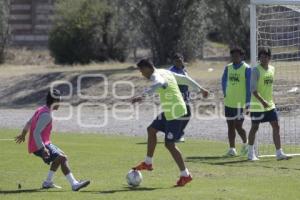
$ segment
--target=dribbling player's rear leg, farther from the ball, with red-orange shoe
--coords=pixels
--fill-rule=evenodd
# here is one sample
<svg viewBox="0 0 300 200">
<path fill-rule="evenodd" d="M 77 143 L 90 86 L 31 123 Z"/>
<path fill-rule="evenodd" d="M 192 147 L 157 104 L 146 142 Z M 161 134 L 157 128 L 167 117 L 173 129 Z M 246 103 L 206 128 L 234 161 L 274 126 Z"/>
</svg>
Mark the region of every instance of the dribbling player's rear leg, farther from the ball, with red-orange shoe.
<svg viewBox="0 0 300 200">
<path fill-rule="evenodd" d="M 192 176 L 189 170 L 185 167 L 181 152 L 176 147 L 175 143 L 173 142 L 165 142 L 166 148 L 171 153 L 173 159 L 175 160 L 177 166 L 180 169 L 180 178 L 176 183 L 176 186 L 184 186 L 185 184 L 192 181 Z"/>
</svg>

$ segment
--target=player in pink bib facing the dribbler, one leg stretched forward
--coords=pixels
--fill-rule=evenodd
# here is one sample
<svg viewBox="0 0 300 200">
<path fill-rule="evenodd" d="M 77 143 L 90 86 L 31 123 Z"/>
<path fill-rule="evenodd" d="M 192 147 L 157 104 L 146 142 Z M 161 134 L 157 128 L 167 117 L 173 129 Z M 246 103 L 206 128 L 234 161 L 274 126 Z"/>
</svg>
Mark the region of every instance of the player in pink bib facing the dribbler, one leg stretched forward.
<svg viewBox="0 0 300 200">
<path fill-rule="evenodd" d="M 52 130 L 52 110 L 58 110 L 61 94 L 59 90 L 49 91 L 46 105 L 39 107 L 33 117 L 26 123 L 23 131 L 15 140 L 17 143 L 25 141 L 26 134 L 30 132 L 28 138 L 28 152 L 41 157 L 45 163 L 50 165 L 50 171 L 42 188 L 61 188 L 53 183 L 53 177 L 59 166 L 67 180 L 70 182 L 72 190 L 78 191 L 90 184 L 90 181 L 77 181 L 71 173 L 68 159 L 65 153 L 51 143 L 50 135 Z"/>
</svg>

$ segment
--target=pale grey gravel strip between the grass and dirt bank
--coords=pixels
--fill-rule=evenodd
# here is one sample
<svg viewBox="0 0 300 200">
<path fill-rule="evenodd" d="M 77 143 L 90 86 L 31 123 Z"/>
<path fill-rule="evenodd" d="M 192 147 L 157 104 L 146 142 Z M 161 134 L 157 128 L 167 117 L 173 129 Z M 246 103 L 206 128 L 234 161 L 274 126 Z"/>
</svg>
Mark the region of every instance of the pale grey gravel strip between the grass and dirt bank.
<svg viewBox="0 0 300 200">
<path fill-rule="evenodd" d="M 61 119 L 69 115 L 70 110 L 65 107 L 62 107 L 54 114 L 53 130 L 55 132 L 121 134 L 145 136 L 146 138 L 146 128 L 152 122 L 155 115 L 153 110 L 149 109 L 144 109 L 136 113 L 127 111 L 123 114 L 121 112 L 112 112 L 112 110 L 108 110 L 105 114 L 102 107 L 82 107 L 81 114 L 78 114 L 79 107 L 72 107 L 72 109 L 73 115 L 68 120 Z M 0 109 L 0 127 L 21 129 L 32 114 L 33 108 Z M 294 119 L 281 117 L 282 139 L 284 143 L 300 143 L 300 137 L 298 136 L 300 123 L 293 120 L 300 122 L 299 117 Z M 105 122 L 107 123 L 105 124 Z M 250 120 L 248 118 L 245 120 L 244 127 L 248 132 L 250 128 Z M 268 124 L 261 126 L 258 137 L 261 142 L 272 143 L 271 129 Z M 194 114 L 186 128 L 186 138 L 227 141 L 225 119 L 220 116 L 206 116 L 203 118 Z M 240 141 L 239 137 L 237 138 Z"/>
</svg>

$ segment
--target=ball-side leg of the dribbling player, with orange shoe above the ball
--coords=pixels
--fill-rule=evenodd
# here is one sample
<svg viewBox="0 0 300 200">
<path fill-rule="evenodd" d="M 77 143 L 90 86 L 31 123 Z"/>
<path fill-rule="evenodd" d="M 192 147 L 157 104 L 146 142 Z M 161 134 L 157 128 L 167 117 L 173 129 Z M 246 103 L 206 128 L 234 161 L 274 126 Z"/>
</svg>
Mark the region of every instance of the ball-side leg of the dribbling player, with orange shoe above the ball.
<svg viewBox="0 0 300 200">
<path fill-rule="evenodd" d="M 147 143 L 147 156 L 143 162 L 141 162 L 139 165 L 133 167 L 134 170 L 148 170 L 152 171 L 152 162 L 153 162 L 153 155 L 155 151 L 155 147 L 157 144 L 157 132 L 158 130 L 149 126 L 147 128 L 148 132 L 148 143 Z"/>
</svg>

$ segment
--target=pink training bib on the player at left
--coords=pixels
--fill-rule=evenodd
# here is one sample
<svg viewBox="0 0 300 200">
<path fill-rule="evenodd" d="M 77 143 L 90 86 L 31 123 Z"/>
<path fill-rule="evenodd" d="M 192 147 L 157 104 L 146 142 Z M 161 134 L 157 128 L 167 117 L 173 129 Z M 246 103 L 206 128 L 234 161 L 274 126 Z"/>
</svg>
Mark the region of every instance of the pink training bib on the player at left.
<svg viewBox="0 0 300 200">
<path fill-rule="evenodd" d="M 37 125 L 38 119 L 43 113 L 50 113 L 50 109 L 47 106 L 42 106 L 37 109 L 37 111 L 34 113 L 33 117 L 31 118 L 31 126 L 30 126 L 30 135 L 29 135 L 29 140 L 28 140 L 28 152 L 33 153 L 36 152 L 38 149 L 33 133 L 34 129 Z M 52 121 L 43 129 L 41 133 L 42 141 L 45 145 L 50 144 L 50 135 L 51 135 L 51 130 L 52 130 Z"/>
</svg>

